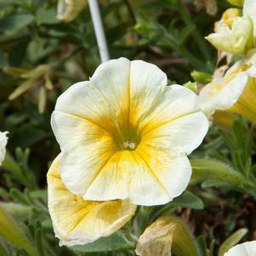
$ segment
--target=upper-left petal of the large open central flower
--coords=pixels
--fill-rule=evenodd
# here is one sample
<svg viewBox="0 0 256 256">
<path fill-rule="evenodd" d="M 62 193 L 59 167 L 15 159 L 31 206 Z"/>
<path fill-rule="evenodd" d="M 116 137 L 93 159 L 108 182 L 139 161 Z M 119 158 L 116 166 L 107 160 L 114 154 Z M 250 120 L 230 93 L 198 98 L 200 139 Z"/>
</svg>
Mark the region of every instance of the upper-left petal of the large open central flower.
<svg viewBox="0 0 256 256">
<path fill-rule="evenodd" d="M 128 121 L 129 69 L 130 61 L 125 58 L 101 64 L 89 82 L 77 82 L 61 94 L 55 110 L 119 134 Z"/>
</svg>

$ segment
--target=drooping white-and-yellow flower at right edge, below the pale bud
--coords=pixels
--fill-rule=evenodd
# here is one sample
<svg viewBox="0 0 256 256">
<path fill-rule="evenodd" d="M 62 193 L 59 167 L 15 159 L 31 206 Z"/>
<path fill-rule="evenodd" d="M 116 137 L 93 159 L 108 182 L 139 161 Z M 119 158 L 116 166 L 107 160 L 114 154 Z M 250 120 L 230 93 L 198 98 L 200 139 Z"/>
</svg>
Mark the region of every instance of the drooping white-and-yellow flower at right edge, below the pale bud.
<svg viewBox="0 0 256 256">
<path fill-rule="evenodd" d="M 227 110 L 256 121 L 256 62 L 241 60 L 225 77 L 208 83 L 199 94 L 202 111 L 211 117 L 215 111 Z"/>
</svg>

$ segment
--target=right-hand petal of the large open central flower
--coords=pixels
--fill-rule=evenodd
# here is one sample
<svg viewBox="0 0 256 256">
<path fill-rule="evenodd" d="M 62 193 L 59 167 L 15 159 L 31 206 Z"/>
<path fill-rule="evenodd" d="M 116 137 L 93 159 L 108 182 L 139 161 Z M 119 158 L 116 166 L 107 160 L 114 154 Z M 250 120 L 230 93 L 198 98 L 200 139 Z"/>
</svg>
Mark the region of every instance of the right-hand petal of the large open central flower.
<svg viewBox="0 0 256 256">
<path fill-rule="evenodd" d="M 208 132 L 198 96 L 179 85 L 167 88 L 162 101 L 141 123 L 141 142 L 172 154 L 191 153 Z"/>
</svg>

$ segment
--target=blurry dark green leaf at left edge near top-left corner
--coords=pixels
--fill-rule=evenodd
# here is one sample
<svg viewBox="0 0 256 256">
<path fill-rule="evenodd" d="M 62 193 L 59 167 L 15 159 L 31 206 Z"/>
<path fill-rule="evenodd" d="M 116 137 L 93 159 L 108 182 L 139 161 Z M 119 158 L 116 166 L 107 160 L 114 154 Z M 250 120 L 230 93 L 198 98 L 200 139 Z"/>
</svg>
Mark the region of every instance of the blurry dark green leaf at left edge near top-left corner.
<svg viewBox="0 0 256 256">
<path fill-rule="evenodd" d="M 0 31 L 8 32 L 19 30 L 25 26 L 28 26 L 32 20 L 34 20 L 34 16 L 31 14 L 9 15 L 3 20 L 0 20 Z"/>
</svg>

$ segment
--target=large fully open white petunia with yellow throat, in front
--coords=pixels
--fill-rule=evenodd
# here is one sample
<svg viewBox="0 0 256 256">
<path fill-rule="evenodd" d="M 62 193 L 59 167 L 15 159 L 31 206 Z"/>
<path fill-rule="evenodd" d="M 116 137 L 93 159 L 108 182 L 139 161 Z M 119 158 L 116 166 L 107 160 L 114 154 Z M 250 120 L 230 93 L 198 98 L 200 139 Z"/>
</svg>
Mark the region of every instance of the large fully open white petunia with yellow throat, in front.
<svg viewBox="0 0 256 256">
<path fill-rule="evenodd" d="M 186 155 L 202 143 L 208 120 L 196 94 L 167 82 L 156 65 L 120 58 L 60 95 L 51 124 L 69 191 L 138 205 L 163 204 L 185 191 Z"/>
</svg>

